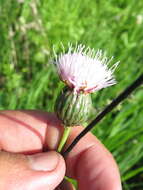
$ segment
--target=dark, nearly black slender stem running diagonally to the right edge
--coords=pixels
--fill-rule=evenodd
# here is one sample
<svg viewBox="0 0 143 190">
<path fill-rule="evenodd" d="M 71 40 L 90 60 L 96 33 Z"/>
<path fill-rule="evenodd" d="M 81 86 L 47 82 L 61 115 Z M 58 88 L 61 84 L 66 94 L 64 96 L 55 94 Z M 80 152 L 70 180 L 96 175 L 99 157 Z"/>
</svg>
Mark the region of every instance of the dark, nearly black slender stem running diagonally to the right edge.
<svg viewBox="0 0 143 190">
<path fill-rule="evenodd" d="M 105 109 L 97 115 L 97 117 L 74 139 L 71 145 L 63 152 L 63 156 L 66 156 L 73 147 L 78 143 L 78 141 L 89 132 L 100 120 L 102 120 L 105 115 L 113 110 L 120 102 L 122 102 L 129 94 L 131 94 L 138 86 L 143 83 L 143 74 L 141 74 L 137 80 L 135 80 L 130 86 L 128 86 L 117 98 L 115 98 L 111 104 L 107 105 Z"/>
</svg>

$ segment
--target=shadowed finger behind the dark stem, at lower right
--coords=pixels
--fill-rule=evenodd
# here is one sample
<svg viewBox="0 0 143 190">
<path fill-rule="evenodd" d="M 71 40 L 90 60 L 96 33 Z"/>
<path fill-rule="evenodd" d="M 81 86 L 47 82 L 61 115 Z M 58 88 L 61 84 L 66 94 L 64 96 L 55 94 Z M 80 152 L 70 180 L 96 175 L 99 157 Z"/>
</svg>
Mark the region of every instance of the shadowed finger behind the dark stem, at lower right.
<svg viewBox="0 0 143 190">
<path fill-rule="evenodd" d="M 67 146 L 83 130 L 75 127 Z M 67 176 L 78 181 L 79 190 L 121 190 L 119 169 L 112 154 L 91 133 L 86 134 L 66 158 Z"/>
</svg>

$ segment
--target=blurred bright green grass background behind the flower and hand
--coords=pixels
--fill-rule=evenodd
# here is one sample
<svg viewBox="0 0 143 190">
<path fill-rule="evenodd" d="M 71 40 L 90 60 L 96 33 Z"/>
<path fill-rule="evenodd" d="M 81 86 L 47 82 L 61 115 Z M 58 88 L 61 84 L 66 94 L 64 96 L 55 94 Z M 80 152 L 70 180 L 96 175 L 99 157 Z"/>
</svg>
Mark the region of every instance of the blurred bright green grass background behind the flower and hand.
<svg viewBox="0 0 143 190">
<path fill-rule="evenodd" d="M 120 61 L 117 85 L 92 95 L 102 110 L 143 72 L 142 0 L 1 0 L 0 109 L 53 111 L 63 84 L 51 63 L 53 45 L 83 43 Z M 143 189 L 143 88 L 93 133 L 119 164 L 123 189 Z"/>
</svg>

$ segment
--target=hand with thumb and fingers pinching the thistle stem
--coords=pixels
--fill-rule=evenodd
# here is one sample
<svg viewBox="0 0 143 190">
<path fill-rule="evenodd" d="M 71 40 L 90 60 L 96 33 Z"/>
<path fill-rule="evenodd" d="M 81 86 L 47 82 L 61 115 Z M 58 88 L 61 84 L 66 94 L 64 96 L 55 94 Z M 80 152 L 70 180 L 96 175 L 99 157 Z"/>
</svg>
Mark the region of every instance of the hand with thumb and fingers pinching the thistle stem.
<svg viewBox="0 0 143 190">
<path fill-rule="evenodd" d="M 73 127 L 66 146 L 82 127 Z M 0 112 L 0 189 L 73 190 L 58 184 L 65 161 L 56 153 L 63 127 L 53 114 L 42 111 Z M 47 152 L 48 151 L 48 152 Z M 88 133 L 66 158 L 67 176 L 79 190 L 121 190 L 117 165 L 106 148 Z"/>
</svg>

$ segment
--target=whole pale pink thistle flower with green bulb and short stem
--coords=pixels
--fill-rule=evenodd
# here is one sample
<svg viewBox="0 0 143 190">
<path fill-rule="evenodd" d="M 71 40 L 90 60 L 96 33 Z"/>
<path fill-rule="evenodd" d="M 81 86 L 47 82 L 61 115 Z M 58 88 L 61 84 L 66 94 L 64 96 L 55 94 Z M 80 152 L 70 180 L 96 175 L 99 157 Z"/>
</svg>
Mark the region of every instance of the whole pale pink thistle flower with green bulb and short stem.
<svg viewBox="0 0 143 190">
<path fill-rule="evenodd" d="M 55 112 L 64 126 L 58 152 L 61 152 L 70 129 L 88 119 L 92 108 L 91 93 L 116 84 L 113 72 L 118 65 L 109 68 L 108 59 L 101 50 L 70 44 L 67 53 L 56 55 L 56 67 L 60 79 L 66 84 L 57 97 Z"/>
</svg>

